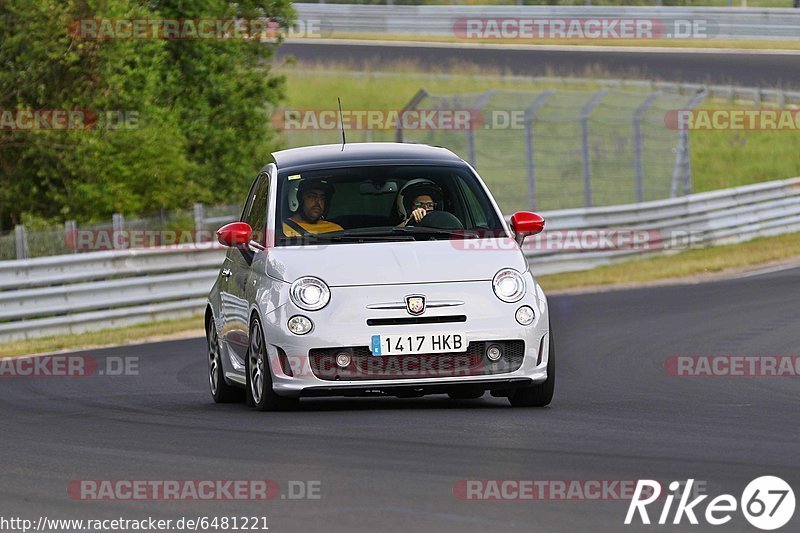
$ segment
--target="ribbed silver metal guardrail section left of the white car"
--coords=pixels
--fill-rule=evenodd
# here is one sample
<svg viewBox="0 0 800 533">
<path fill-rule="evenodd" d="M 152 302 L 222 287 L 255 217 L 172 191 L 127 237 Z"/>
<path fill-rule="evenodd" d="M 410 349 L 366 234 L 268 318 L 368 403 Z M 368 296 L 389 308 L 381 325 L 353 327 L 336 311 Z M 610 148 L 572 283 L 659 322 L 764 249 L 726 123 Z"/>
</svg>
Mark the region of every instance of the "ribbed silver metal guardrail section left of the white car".
<svg viewBox="0 0 800 533">
<path fill-rule="evenodd" d="M 209 245 L 4 261 L 0 343 L 195 315 L 224 257 Z"/>
</svg>

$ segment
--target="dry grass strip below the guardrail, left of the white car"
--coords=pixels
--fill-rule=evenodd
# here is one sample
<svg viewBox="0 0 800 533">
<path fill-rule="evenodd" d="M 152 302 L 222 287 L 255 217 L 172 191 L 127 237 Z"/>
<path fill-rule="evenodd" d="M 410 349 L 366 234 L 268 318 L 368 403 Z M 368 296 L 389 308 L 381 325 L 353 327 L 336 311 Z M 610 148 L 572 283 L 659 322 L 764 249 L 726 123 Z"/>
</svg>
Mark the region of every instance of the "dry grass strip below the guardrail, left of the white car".
<svg viewBox="0 0 800 533">
<path fill-rule="evenodd" d="M 91 331 L 79 335 L 14 341 L 0 344 L 0 357 L 138 344 L 145 341 L 168 340 L 172 337 L 186 337 L 190 336 L 192 332 L 197 332 L 202 336 L 202 331 L 203 316 L 197 315 L 124 328 Z"/>
</svg>

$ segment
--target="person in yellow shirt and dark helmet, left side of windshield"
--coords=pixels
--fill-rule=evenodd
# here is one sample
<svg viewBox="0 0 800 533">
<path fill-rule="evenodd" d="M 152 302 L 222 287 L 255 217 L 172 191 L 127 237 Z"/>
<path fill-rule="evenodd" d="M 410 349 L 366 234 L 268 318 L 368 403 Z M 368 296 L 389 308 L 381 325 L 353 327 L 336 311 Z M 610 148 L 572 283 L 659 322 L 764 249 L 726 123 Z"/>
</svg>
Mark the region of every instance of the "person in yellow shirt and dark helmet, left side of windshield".
<svg viewBox="0 0 800 533">
<path fill-rule="evenodd" d="M 283 234 L 300 237 L 306 233 L 342 231 L 339 224 L 325 220 L 334 188 L 325 179 L 306 179 L 297 186 L 297 210 L 283 221 Z"/>
</svg>

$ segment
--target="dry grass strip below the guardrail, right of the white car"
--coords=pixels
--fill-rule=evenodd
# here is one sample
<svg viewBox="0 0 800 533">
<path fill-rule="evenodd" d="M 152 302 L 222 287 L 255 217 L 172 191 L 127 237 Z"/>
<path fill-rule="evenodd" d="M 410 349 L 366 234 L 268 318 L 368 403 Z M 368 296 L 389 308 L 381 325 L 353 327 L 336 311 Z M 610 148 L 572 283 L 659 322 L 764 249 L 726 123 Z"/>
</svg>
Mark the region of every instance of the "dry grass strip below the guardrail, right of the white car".
<svg viewBox="0 0 800 533">
<path fill-rule="evenodd" d="M 620 286 L 667 279 L 686 279 L 800 258 L 800 233 L 762 237 L 745 243 L 687 250 L 673 255 L 634 259 L 592 270 L 539 276 L 546 291 Z M 800 262 L 800 261 L 799 261 Z M 533 271 L 536 271 L 535 265 Z"/>
</svg>

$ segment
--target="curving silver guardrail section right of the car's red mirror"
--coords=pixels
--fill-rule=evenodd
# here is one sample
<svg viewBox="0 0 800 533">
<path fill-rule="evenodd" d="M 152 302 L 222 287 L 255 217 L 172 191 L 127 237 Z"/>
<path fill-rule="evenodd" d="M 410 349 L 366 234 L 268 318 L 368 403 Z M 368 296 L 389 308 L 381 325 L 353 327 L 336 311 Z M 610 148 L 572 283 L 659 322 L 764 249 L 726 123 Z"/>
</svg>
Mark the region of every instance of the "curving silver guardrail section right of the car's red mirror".
<svg viewBox="0 0 800 533">
<path fill-rule="evenodd" d="M 800 178 L 771 181 L 721 191 L 591 209 L 543 213 L 546 233 L 560 232 L 561 241 L 581 232 L 623 230 L 647 238 L 641 247 L 612 246 L 573 251 L 536 246 L 525 250 L 535 275 L 584 270 L 634 256 L 656 255 L 687 248 L 744 242 L 800 231 Z M 570 232 L 578 235 L 570 235 Z M 613 234 L 612 234 L 613 236 Z"/>
</svg>

